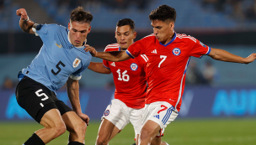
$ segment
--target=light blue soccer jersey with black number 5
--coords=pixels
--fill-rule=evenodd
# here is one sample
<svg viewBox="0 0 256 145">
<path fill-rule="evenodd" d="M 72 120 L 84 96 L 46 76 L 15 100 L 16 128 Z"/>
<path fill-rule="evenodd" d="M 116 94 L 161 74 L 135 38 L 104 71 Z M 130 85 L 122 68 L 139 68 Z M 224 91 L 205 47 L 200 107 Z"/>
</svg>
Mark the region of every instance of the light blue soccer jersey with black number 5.
<svg viewBox="0 0 256 145">
<path fill-rule="evenodd" d="M 43 46 L 31 64 L 22 70 L 22 75 L 56 91 L 67 82 L 70 76 L 79 80 L 86 70 L 92 55 L 84 47 L 75 47 L 68 38 L 68 29 L 57 24 L 38 25 L 35 34 L 40 36 Z"/>
</svg>

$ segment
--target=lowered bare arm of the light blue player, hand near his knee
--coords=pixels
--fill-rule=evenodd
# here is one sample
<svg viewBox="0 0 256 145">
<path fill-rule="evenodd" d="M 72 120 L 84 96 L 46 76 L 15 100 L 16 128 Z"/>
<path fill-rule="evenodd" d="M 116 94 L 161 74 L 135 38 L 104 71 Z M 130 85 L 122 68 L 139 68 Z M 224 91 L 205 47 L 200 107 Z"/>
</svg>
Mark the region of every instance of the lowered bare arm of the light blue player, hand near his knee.
<svg viewBox="0 0 256 145">
<path fill-rule="evenodd" d="M 79 84 L 78 80 L 72 80 L 68 78 L 67 80 L 67 96 L 71 102 L 72 109 L 77 113 L 77 116 L 83 119 L 83 122 L 86 122 L 88 125 L 90 118 L 83 114 L 81 110 L 80 100 L 79 100 Z"/>
</svg>

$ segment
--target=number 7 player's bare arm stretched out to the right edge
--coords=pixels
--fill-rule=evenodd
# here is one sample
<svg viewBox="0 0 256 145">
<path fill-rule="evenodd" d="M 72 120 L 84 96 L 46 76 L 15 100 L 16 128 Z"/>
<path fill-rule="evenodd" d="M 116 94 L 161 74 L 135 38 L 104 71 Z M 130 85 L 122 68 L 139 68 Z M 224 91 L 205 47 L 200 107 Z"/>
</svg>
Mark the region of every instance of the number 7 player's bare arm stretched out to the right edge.
<svg viewBox="0 0 256 145">
<path fill-rule="evenodd" d="M 211 52 L 209 56 L 211 56 L 211 58 L 214 60 L 221 60 L 221 61 L 241 63 L 241 64 L 249 64 L 256 59 L 256 53 L 250 54 L 247 58 L 243 58 L 235 54 L 231 54 L 226 50 L 213 49 L 213 48 L 211 48 Z"/>
</svg>

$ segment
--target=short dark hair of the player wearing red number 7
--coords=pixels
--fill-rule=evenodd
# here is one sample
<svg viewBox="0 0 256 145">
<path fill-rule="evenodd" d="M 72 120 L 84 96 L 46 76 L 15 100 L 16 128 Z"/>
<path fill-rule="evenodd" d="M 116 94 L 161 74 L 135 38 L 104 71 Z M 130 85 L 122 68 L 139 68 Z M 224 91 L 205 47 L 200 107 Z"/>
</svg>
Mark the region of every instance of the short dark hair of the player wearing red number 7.
<svg viewBox="0 0 256 145">
<path fill-rule="evenodd" d="M 168 5 L 161 5 L 157 9 L 152 10 L 152 12 L 149 14 L 149 19 L 152 20 L 171 20 L 173 23 L 176 21 L 176 10 L 175 8 L 171 8 Z"/>
</svg>

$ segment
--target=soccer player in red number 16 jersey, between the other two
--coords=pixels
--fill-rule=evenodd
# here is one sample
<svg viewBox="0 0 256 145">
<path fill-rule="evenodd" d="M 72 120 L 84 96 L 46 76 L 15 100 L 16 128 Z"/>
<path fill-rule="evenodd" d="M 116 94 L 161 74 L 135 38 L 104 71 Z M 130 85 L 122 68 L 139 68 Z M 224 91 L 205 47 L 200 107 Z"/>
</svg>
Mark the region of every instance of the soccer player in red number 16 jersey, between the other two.
<svg viewBox="0 0 256 145">
<path fill-rule="evenodd" d="M 125 51 L 134 43 L 135 38 L 135 23 L 131 18 L 121 19 L 116 23 L 115 39 L 117 44 L 107 45 L 104 51 Z M 122 62 L 103 60 L 103 63 L 91 62 L 88 66 L 88 69 L 98 73 L 110 74 L 112 72 L 115 82 L 115 99 L 104 111 L 96 141 L 97 145 L 108 144 L 129 122 L 134 127 L 137 144 L 145 106 L 147 60 L 147 56 L 141 54 L 136 59 Z M 157 138 L 157 141 L 161 142 L 159 139 Z"/>
</svg>

